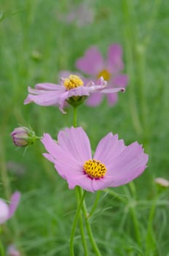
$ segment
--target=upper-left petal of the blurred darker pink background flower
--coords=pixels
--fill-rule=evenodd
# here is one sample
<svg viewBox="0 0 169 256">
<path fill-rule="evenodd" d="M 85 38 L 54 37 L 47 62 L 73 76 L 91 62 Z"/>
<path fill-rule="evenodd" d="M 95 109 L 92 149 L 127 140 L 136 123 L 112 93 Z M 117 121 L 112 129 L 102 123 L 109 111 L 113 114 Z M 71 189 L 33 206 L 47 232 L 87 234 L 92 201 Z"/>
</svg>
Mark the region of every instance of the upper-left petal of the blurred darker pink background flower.
<svg viewBox="0 0 169 256">
<path fill-rule="evenodd" d="M 89 48 L 84 57 L 77 59 L 76 68 L 88 75 L 98 75 L 103 69 L 103 58 L 97 47 Z"/>
</svg>

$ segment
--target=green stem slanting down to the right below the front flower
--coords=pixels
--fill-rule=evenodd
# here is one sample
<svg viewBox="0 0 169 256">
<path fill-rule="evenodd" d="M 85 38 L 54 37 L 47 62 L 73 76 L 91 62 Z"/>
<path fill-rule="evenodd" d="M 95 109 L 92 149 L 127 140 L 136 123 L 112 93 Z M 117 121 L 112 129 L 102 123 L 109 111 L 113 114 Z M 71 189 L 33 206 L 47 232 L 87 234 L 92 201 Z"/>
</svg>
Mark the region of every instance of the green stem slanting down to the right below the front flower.
<svg viewBox="0 0 169 256">
<path fill-rule="evenodd" d="M 78 187 L 78 189 L 79 189 L 79 195 L 82 196 L 81 187 Z M 87 233 L 88 233 L 88 236 L 90 238 L 90 243 L 93 246 L 93 251 L 95 252 L 96 256 L 101 256 L 101 252 L 99 251 L 98 246 L 95 243 L 95 239 L 93 237 L 93 231 L 90 227 L 90 223 L 87 220 L 88 214 L 87 214 L 87 208 L 86 208 L 86 205 L 85 205 L 84 201 L 82 202 L 82 211 L 83 211 L 83 214 L 84 214 L 84 220 L 85 220 L 85 224 L 86 224 L 86 228 L 87 228 Z"/>
</svg>

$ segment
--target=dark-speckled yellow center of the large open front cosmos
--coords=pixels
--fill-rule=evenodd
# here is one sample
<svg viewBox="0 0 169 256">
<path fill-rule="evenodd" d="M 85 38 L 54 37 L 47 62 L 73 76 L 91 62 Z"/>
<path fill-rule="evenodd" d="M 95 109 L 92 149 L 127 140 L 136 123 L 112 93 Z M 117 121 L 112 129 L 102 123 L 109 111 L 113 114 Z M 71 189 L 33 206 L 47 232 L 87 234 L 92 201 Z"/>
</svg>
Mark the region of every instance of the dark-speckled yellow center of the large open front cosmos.
<svg viewBox="0 0 169 256">
<path fill-rule="evenodd" d="M 103 178 L 106 174 L 106 166 L 95 159 L 87 160 L 83 165 L 84 172 L 91 178 Z"/>
</svg>

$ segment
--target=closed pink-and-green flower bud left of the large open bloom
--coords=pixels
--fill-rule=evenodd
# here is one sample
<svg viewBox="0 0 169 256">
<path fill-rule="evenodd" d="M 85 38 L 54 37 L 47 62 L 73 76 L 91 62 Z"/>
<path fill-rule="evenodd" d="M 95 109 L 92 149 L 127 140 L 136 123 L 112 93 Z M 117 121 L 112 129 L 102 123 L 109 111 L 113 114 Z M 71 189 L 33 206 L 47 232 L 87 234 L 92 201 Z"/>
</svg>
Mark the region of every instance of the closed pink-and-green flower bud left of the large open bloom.
<svg viewBox="0 0 169 256">
<path fill-rule="evenodd" d="M 38 138 L 35 135 L 35 132 L 27 127 L 17 127 L 11 133 L 13 142 L 15 146 L 28 146 L 29 144 L 33 144 L 34 141 Z"/>
</svg>

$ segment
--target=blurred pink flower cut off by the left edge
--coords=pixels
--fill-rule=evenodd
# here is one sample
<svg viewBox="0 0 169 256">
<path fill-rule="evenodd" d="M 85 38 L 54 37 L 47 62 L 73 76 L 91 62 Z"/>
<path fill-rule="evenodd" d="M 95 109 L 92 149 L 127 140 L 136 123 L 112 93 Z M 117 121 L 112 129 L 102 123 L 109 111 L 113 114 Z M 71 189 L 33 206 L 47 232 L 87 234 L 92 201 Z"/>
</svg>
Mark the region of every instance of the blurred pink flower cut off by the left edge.
<svg viewBox="0 0 169 256">
<path fill-rule="evenodd" d="M 10 219 L 17 209 L 17 205 L 20 202 L 20 192 L 12 194 L 9 206 L 0 198 L 0 224 Z"/>
</svg>

